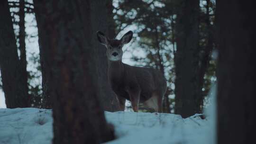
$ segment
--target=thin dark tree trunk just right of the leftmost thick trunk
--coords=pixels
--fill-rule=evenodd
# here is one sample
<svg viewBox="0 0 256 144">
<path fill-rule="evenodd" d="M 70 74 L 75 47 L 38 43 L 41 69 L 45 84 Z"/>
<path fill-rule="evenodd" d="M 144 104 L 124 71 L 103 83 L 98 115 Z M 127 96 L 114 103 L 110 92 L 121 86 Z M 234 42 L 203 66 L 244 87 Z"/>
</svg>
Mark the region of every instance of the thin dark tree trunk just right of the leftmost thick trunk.
<svg viewBox="0 0 256 144">
<path fill-rule="evenodd" d="M 24 91 L 28 93 L 28 83 L 27 83 L 27 56 L 26 56 L 26 44 L 25 44 L 25 2 L 24 0 L 19 0 L 19 51 L 20 51 L 20 60 L 19 60 L 19 66 L 20 66 L 20 74 L 21 76 L 21 83 L 23 85 Z M 30 101 L 30 100 L 29 100 Z"/>
</svg>

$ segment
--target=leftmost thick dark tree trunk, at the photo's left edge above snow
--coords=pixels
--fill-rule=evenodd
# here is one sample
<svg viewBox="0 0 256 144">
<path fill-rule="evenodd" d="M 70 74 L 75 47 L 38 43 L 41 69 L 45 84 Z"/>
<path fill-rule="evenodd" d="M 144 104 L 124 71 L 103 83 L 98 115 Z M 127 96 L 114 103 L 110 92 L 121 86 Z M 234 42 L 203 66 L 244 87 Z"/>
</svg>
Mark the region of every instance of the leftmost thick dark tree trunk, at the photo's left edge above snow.
<svg viewBox="0 0 256 144">
<path fill-rule="evenodd" d="M 21 71 L 8 0 L 0 2 L 0 70 L 7 108 L 28 107 L 27 81 Z"/>
</svg>

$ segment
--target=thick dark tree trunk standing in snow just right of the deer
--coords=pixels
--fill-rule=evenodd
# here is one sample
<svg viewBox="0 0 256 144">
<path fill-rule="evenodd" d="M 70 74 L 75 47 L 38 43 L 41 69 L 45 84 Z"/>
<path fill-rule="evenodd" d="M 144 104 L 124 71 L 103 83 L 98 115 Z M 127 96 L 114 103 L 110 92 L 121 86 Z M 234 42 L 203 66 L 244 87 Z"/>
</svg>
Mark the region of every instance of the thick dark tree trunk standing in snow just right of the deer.
<svg viewBox="0 0 256 144">
<path fill-rule="evenodd" d="M 189 117 L 201 113 L 202 93 L 198 71 L 199 0 L 180 0 L 176 20 L 175 113 Z"/>
</svg>

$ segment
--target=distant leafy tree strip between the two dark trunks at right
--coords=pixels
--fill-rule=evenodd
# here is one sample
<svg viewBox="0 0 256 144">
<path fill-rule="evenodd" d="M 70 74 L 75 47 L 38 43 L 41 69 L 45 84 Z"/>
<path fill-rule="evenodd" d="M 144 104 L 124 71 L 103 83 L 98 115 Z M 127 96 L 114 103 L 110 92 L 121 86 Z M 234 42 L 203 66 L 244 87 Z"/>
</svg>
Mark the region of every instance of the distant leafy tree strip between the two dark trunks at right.
<svg viewBox="0 0 256 144">
<path fill-rule="evenodd" d="M 204 3 L 203 3 L 204 2 Z M 212 51 L 216 49 L 215 0 L 201 0 L 200 13 L 200 69 L 198 70 L 201 99 L 209 95 L 212 83 L 216 81 L 216 56 Z M 202 100 L 198 103 L 202 105 Z M 201 107 L 202 108 L 202 107 Z"/>
</svg>

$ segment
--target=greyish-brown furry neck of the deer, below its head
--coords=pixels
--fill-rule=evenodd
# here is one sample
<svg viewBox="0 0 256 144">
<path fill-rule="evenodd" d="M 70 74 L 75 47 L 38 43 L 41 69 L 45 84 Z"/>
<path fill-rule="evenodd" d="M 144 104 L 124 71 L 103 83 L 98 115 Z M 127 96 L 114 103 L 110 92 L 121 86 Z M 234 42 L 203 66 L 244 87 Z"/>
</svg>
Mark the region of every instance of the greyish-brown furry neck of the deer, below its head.
<svg viewBox="0 0 256 144">
<path fill-rule="evenodd" d="M 124 64 L 122 61 L 109 61 L 108 74 L 110 81 L 121 82 L 124 76 Z"/>
</svg>

